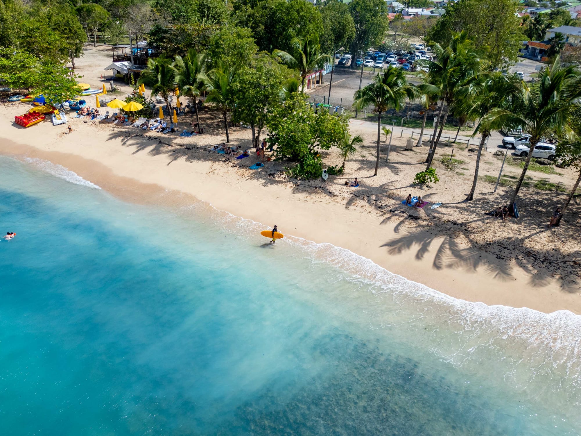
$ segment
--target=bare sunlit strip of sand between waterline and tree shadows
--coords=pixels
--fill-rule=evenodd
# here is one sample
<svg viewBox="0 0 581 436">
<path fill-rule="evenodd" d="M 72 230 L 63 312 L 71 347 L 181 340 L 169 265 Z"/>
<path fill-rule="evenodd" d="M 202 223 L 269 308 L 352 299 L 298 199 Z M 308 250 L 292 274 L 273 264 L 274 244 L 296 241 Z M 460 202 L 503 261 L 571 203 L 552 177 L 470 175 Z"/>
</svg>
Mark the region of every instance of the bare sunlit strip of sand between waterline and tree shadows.
<svg viewBox="0 0 581 436">
<path fill-rule="evenodd" d="M 5 115 L 3 119 L 9 124 Z M 68 135 L 58 134 L 48 123 L 35 126 L 34 137 L 42 141 L 35 141 L 33 135 L 23 137 L 19 135 L 20 129 L 9 127 L 1 134 L 5 141 L 0 145 L 0 153 L 49 160 L 125 201 L 171 205 L 187 195 L 189 201 L 202 201 L 234 216 L 257 223 L 271 221 L 269 226 L 277 224 L 285 234 L 345 248 L 393 274 L 453 298 L 487 305 L 526 307 L 544 313 L 557 310 L 581 313 L 578 293 L 562 292 L 557 280 L 533 287 L 528 274 L 520 269 L 513 269 L 511 277 L 494 278 L 487 274 L 487 263 L 499 262 L 490 253 L 480 253 L 484 262 L 474 270 L 435 269 L 434 256 L 437 245 L 446 238 L 444 235 L 431 239 L 429 248 L 436 249 L 436 253 L 429 251 L 421 259 L 417 259 L 413 251 L 390 254 L 387 252 L 389 240 L 401 237 L 401 233 L 397 224 L 383 214 L 365 213 L 335 202 L 323 205 L 314 195 L 294 194 L 281 184 L 264 186 L 255 178 L 240 177 L 235 171 L 226 176 L 216 169 L 214 162 L 187 162 L 175 156 L 171 159 L 166 153 L 153 154 L 145 149 L 140 152 L 139 140 L 136 144 L 123 144 L 123 138 L 92 128 L 90 124 L 80 124 L 77 129 L 78 133 L 81 130 L 90 132 L 90 137 L 87 135 L 82 144 L 77 143 L 78 134 L 71 135 L 69 140 Z M 204 139 L 211 140 L 211 137 Z M 430 229 L 426 227 L 423 231 Z M 376 235 L 381 235 L 379 244 Z M 384 243 L 386 240 L 388 242 Z M 518 292 L 511 292 L 515 290 Z"/>
</svg>

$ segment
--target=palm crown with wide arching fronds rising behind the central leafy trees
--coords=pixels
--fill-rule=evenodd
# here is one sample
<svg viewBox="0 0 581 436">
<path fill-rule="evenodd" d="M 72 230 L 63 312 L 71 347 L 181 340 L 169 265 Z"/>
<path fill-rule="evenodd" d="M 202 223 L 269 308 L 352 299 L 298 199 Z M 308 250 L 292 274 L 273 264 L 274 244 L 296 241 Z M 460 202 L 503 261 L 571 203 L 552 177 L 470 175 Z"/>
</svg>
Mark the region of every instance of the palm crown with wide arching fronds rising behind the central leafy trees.
<svg viewBox="0 0 581 436">
<path fill-rule="evenodd" d="M 290 68 L 299 70 L 300 90 L 304 92 L 304 81 L 315 69 L 321 69 L 325 63 L 331 62 L 331 56 L 321 53 L 321 45 L 317 35 L 306 38 L 295 37 L 290 41 L 290 53 L 274 50 L 272 54 L 279 56 Z"/>
</svg>

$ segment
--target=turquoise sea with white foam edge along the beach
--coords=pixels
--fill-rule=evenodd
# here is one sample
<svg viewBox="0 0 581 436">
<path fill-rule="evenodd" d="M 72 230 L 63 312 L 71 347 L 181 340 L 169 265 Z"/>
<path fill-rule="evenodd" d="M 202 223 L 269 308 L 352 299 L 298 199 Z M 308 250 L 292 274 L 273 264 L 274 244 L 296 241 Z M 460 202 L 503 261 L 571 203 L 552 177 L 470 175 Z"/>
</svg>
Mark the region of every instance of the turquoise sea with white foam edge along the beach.
<svg viewBox="0 0 581 436">
<path fill-rule="evenodd" d="M 0 434 L 581 433 L 580 317 L 263 228 L 0 158 Z"/>
</svg>

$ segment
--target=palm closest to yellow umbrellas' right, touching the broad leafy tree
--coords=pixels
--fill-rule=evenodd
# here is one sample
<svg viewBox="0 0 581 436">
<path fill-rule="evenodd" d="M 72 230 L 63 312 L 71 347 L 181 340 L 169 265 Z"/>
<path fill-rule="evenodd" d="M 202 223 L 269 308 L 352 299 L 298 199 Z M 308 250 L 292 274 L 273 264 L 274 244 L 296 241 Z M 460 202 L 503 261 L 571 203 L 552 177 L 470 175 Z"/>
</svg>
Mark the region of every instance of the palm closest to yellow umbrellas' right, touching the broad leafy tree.
<svg viewBox="0 0 581 436">
<path fill-rule="evenodd" d="M 228 110 L 232 105 L 230 85 L 232 84 L 235 73 L 235 66 L 228 66 L 223 62 L 218 62 L 214 69 L 211 69 L 207 73 L 200 73 L 199 76 L 207 91 L 204 104 L 214 106 L 222 111 L 224 127 L 226 128 L 226 142 L 230 142 L 228 133 Z"/>
</svg>

